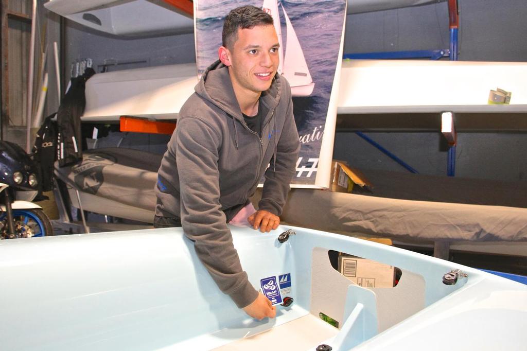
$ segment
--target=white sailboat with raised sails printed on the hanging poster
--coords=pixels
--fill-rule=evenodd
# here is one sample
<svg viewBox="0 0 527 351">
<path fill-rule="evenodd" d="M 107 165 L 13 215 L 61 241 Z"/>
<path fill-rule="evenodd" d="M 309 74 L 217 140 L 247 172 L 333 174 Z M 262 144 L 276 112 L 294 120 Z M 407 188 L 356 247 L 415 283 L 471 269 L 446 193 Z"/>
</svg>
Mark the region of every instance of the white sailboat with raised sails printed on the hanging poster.
<svg viewBox="0 0 527 351">
<path fill-rule="evenodd" d="M 264 0 L 262 5 L 264 11 L 269 13 L 274 19 L 276 34 L 278 35 L 278 42 L 280 44 L 280 64 L 278 66 L 278 74 L 283 75 L 291 85 L 292 96 L 309 96 L 313 93 L 315 83 L 311 79 L 309 68 L 307 66 L 304 52 L 298 41 L 289 16 L 282 5 L 282 12 L 286 19 L 287 30 L 287 47 L 284 55 L 284 45 L 282 44 L 282 31 L 280 26 L 280 16 L 278 13 L 277 0 Z M 285 57 L 284 57 L 285 56 Z"/>
</svg>

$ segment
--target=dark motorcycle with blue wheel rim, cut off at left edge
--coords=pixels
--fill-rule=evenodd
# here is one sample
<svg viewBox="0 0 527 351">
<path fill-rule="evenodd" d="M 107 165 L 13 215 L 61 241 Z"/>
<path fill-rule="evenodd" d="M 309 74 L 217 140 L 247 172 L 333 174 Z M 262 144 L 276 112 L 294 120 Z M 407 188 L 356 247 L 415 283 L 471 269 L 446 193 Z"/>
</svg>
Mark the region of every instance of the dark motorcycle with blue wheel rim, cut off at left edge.
<svg viewBox="0 0 527 351">
<path fill-rule="evenodd" d="M 38 194 L 38 173 L 29 155 L 17 144 L 0 141 L 0 239 L 53 235 Z"/>
</svg>

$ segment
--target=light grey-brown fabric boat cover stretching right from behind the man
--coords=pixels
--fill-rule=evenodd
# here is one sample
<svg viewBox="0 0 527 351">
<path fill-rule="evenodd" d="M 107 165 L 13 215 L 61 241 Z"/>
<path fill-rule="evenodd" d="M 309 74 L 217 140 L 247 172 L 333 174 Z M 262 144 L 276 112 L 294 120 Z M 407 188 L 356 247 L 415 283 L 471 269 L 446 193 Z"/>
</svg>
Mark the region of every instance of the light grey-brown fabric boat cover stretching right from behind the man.
<svg viewBox="0 0 527 351">
<path fill-rule="evenodd" d="M 301 204 L 301 205 L 300 205 Z M 292 189 L 291 225 L 430 241 L 527 241 L 527 209 Z"/>
</svg>

